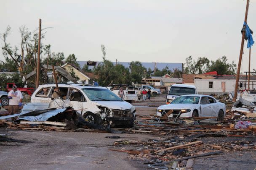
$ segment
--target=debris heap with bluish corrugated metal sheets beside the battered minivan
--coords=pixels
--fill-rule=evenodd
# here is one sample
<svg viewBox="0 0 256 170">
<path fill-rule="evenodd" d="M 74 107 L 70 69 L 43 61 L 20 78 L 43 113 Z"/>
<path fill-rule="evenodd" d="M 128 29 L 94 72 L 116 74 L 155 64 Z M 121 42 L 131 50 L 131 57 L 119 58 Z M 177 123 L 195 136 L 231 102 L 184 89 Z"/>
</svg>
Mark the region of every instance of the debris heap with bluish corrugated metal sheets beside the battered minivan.
<svg viewBox="0 0 256 170">
<path fill-rule="evenodd" d="M 17 116 L 19 116 L 19 119 L 13 122 L 5 119 Z M 72 107 L 61 109 L 51 108 L 25 113 L 21 112 L 16 115 L 1 116 L 0 127 L 1 126 L 21 130 L 95 131 L 117 133 L 117 131 L 113 131 L 109 125 L 103 127 L 87 122 L 83 116 L 73 110 Z"/>
</svg>

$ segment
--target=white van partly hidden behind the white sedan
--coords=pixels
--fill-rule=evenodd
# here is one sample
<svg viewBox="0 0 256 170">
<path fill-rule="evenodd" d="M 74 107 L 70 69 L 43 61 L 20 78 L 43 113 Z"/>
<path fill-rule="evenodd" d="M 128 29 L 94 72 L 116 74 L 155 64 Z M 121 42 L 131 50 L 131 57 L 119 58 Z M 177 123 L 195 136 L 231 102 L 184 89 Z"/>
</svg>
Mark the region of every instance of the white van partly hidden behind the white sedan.
<svg viewBox="0 0 256 170">
<path fill-rule="evenodd" d="M 166 104 L 171 103 L 176 97 L 186 94 L 198 94 L 196 86 L 188 84 L 173 84 L 167 94 Z"/>
</svg>

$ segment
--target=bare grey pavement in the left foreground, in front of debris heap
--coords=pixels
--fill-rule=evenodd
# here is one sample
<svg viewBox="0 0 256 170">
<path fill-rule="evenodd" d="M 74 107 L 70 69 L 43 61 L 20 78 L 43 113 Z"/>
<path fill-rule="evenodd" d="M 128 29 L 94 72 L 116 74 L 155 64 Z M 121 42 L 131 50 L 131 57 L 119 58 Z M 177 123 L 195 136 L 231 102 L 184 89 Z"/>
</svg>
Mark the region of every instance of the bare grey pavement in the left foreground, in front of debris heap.
<svg viewBox="0 0 256 170">
<path fill-rule="evenodd" d="M 22 142 L 0 142 L 0 169 L 136 170 L 143 165 L 127 153 L 109 151 L 110 133 L 19 131 L 0 128 L 0 134 Z M 123 139 L 147 140 L 148 135 L 118 134 Z M 154 138 L 152 136 L 152 138 Z M 115 149 L 122 149 L 115 146 Z"/>
</svg>

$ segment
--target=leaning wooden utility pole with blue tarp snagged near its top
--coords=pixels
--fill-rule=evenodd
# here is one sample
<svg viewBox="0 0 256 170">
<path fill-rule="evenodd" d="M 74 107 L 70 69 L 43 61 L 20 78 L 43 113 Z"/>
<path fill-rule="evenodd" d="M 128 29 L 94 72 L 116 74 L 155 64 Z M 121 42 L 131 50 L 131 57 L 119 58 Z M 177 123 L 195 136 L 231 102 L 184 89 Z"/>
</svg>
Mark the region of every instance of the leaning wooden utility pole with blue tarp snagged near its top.
<svg viewBox="0 0 256 170">
<path fill-rule="evenodd" d="M 247 23 L 249 1 L 250 0 L 247 0 L 247 3 L 246 3 L 245 23 Z M 243 26 L 243 28 L 245 28 L 245 26 Z M 240 68 L 241 68 L 241 62 L 242 62 L 242 56 L 243 56 L 243 44 L 244 44 L 244 41 L 245 41 L 245 31 L 243 31 L 243 33 L 242 33 L 242 42 L 241 42 L 240 56 L 239 56 L 238 67 L 237 67 L 237 77 L 236 77 L 236 80 L 235 80 L 235 94 L 234 94 L 233 102 L 235 102 L 236 99 L 237 99 L 237 88 L 238 88 L 238 81 L 239 81 L 239 76 L 240 76 Z"/>
</svg>

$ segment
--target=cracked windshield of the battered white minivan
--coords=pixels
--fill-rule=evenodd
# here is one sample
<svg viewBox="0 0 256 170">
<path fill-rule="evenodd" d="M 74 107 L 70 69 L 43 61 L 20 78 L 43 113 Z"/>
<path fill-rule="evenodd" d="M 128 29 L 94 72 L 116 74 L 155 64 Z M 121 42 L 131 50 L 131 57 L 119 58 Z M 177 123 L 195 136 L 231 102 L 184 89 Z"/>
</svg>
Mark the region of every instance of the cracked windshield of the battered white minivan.
<svg viewBox="0 0 256 170">
<path fill-rule="evenodd" d="M 109 89 L 83 88 L 82 90 L 91 101 L 123 101 Z"/>
</svg>

